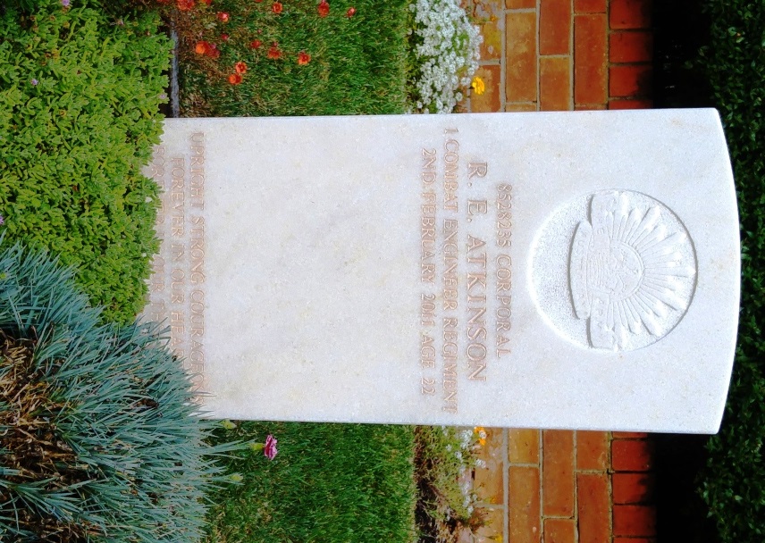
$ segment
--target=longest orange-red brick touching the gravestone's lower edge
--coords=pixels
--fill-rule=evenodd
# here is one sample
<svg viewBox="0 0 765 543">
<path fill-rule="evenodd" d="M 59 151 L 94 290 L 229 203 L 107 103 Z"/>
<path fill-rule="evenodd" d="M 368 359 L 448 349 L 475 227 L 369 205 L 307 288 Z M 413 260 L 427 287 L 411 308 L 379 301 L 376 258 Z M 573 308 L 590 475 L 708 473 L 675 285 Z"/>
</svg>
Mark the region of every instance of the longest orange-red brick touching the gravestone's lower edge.
<svg viewBox="0 0 765 543">
<path fill-rule="evenodd" d="M 542 510 L 545 516 L 574 514 L 573 431 L 542 431 Z"/>
</svg>

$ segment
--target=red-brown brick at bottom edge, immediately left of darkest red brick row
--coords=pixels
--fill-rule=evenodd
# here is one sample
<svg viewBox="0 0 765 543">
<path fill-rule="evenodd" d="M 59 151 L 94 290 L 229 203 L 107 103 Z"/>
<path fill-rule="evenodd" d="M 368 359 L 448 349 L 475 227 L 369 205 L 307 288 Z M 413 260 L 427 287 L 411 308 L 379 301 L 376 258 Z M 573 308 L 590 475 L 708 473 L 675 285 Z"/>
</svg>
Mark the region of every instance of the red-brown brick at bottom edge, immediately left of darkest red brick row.
<svg viewBox="0 0 765 543">
<path fill-rule="evenodd" d="M 609 479 L 605 473 L 576 475 L 579 543 L 603 543 L 611 536 Z"/>
</svg>

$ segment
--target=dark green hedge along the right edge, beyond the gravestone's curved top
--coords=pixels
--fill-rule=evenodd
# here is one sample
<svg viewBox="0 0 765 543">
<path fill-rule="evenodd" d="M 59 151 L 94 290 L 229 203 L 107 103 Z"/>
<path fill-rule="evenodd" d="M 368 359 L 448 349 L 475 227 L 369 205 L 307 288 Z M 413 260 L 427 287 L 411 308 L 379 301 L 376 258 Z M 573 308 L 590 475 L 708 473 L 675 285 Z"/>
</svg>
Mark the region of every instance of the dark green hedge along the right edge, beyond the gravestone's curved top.
<svg viewBox="0 0 765 543">
<path fill-rule="evenodd" d="M 765 540 L 765 0 L 706 0 L 710 81 L 733 161 L 742 238 L 742 307 L 727 410 L 710 439 L 702 496 L 724 543 Z"/>
</svg>

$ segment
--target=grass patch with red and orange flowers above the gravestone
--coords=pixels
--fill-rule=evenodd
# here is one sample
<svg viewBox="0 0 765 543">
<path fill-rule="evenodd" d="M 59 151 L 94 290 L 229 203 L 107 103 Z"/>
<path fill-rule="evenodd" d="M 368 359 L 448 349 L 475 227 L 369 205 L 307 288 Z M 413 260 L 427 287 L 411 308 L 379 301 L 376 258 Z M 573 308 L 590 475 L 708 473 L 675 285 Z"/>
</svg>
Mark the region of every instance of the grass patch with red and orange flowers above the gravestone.
<svg viewBox="0 0 765 543">
<path fill-rule="evenodd" d="M 220 0 L 181 13 L 181 114 L 404 113 L 407 0 L 326 5 L 324 17 L 313 0 Z"/>
</svg>

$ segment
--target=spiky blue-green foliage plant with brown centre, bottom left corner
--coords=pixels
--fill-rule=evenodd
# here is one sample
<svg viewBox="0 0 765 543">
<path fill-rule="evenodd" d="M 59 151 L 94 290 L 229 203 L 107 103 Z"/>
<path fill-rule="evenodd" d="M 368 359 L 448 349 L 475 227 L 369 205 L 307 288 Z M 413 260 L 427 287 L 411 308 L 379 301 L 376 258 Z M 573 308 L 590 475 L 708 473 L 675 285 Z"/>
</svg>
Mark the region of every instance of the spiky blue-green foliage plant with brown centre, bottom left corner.
<svg viewBox="0 0 765 543">
<path fill-rule="evenodd" d="M 196 541 L 215 464 L 189 376 L 155 324 L 100 309 L 0 236 L 0 540 Z"/>
</svg>

